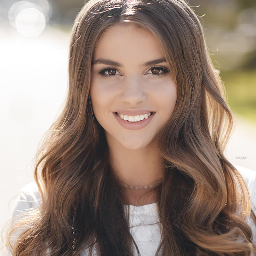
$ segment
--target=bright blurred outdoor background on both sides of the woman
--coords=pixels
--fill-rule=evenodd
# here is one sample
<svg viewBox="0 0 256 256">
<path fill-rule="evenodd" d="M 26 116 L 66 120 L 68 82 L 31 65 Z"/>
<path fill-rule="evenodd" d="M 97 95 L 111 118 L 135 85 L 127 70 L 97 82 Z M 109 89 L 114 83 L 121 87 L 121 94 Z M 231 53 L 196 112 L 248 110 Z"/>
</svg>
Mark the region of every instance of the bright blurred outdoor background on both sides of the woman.
<svg viewBox="0 0 256 256">
<path fill-rule="evenodd" d="M 83 0 L 0 2 L 0 228 L 20 188 L 33 180 L 32 158 L 67 89 L 69 31 Z M 236 129 L 233 164 L 256 170 L 256 2 L 190 0 L 225 83 Z"/>
</svg>

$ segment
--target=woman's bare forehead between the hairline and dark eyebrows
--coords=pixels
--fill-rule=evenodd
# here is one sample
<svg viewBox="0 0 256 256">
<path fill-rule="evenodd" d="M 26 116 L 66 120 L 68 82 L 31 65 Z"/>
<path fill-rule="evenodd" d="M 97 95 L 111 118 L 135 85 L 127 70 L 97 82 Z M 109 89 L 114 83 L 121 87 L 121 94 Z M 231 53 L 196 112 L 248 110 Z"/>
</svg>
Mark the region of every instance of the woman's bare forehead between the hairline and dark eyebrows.
<svg viewBox="0 0 256 256">
<path fill-rule="evenodd" d="M 134 23 L 123 22 L 109 27 L 101 36 L 94 59 L 110 56 L 128 56 L 152 58 L 162 56 L 160 40 L 149 29 L 138 27 Z"/>
</svg>

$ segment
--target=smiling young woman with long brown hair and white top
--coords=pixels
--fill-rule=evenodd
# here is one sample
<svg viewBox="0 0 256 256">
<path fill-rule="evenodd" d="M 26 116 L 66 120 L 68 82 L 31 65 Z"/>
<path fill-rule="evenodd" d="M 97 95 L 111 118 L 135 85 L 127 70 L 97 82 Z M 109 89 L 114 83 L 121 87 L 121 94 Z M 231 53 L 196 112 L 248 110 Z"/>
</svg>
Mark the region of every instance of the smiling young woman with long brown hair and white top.
<svg viewBox="0 0 256 256">
<path fill-rule="evenodd" d="M 188 4 L 90 0 L 68 71 L 13 256 L 256 255 L 256 172 L 224 155 L 234 116 Z"/>
</svg>

